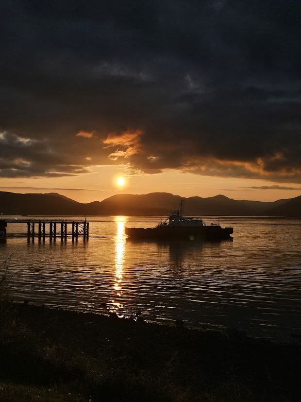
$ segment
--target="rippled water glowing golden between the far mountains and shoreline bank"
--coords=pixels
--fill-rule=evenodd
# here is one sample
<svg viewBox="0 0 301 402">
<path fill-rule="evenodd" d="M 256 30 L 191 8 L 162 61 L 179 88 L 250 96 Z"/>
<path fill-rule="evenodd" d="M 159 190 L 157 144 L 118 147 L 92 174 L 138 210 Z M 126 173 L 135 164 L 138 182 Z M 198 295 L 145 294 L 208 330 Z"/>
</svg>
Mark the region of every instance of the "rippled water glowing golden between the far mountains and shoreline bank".
<svg viewBox="0 0 301 402">
<path fill-rule="evenodd" d="M 155 226 L 158 217 L 88 220 L 85 243 L 27 243 L 26 225 L 8 224 L 0 262 L 12 254 L 15 301 L 119 316 L 141 311 L 151 321 L 299 342 L 290 335 L 301 332 L 300 218 L 223 217 L 233 240 L 204 243 L 126 239 L 125 226 Z"/>
</svg>

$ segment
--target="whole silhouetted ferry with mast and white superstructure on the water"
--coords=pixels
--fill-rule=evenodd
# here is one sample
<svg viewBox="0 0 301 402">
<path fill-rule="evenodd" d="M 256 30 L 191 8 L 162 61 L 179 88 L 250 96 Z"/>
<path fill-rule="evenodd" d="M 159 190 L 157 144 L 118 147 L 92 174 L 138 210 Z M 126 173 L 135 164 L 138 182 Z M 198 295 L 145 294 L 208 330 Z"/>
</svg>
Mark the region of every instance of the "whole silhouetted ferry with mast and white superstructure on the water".
<svg viewBox="0 0 301 402">
<path fill-rule="evenodd" d="M 220 240 L 233 233 L 233 227 L 222 228 L 218 223 L 207 224 L 203 219 L 183 214 L 184 200 L 180 209 L 169 212 L 166 220 L 156 227 L 125 227 L 125 234 L 135 240 Z"/>
</svg>

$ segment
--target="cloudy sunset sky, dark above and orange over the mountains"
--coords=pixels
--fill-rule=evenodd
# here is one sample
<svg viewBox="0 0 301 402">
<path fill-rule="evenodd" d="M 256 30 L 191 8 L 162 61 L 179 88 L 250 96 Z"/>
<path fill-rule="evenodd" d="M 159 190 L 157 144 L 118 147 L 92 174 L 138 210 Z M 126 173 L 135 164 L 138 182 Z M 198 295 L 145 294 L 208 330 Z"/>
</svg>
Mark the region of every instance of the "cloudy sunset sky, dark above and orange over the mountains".
<svg viewBox="0 0 301 402">
<path fill-rule="evenodd" d="M 0 191 L 300 195 L 300 20 L 297 0 L 2 0 Z"/>
</svg>

